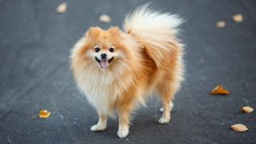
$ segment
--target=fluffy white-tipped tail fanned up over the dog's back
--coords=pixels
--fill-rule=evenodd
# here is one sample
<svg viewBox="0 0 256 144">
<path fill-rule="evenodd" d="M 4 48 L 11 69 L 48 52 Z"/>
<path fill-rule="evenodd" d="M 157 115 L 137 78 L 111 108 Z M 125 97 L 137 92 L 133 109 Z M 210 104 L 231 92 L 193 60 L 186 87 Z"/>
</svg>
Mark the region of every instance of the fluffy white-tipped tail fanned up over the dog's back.
<svg viewBox="0 0 256 144">
<path fill-rule="evenodd" d="M 170 52 L 176 53 L 182 49 L 182 44 L 176 38 L 177 26 L 182 24 L 178 15 L 160 13 L 152 10 L 150 4 L 139 6 L 133 13 L 126 16 L 123 24 L 127 34 L 132 34 L 146 49 L 146 53 L 154 60 L 157 66 Z"/>
</svg>

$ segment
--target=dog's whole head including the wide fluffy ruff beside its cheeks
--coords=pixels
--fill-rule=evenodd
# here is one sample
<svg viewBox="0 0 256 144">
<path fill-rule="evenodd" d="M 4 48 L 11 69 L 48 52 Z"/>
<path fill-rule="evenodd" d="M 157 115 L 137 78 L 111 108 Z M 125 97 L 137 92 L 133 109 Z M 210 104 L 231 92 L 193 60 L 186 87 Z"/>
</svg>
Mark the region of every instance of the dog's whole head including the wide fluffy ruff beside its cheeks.
<svg viewBox="0 0 256 144">
<path fill-rule="evenodd" d="M 129 48 L 135 45 L 133 43 L 133 38 L 122 34 L 117 26 L 109 30 L 91 27 L 74 46 L 72 57 L 83 61 L 80 64 L 97 66 L 102 70 L 114 69 L 114 65 L 120 66 L 122 63 L 124 66 L 134 57 L 134 52 Z"/>
</svg>

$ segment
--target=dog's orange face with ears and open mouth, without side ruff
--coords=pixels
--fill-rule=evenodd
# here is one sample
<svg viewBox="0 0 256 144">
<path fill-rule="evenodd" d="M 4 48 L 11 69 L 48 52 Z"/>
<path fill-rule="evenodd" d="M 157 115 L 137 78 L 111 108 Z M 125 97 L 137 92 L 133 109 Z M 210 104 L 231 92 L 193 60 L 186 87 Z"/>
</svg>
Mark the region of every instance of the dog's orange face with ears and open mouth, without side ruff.
<svg viewBox="0 0 256 144">
<path fill-rule="evenodd" d="M 101 30 L 98 27 L 92 27 L 86 33 L 90 48 L 87 50 L 88 57 L 98 62 L 98 66 L 102 69 L 109 68 L 110 64 L 120 58 L 121 31 L 118 27 L 110 28 L 110 30 Z"/>
</svg>

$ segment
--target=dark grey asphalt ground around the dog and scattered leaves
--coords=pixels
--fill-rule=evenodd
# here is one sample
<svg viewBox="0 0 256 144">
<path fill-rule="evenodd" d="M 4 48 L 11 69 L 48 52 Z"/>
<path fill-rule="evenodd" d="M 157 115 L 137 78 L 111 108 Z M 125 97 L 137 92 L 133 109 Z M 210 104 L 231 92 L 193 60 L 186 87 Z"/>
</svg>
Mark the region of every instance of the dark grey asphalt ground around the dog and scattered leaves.
<svg viewBox="0 0 256 144">
<path fill-rule="evenodd" d="M 70 72 L 70 48 L 90 26 L 122 26 L 122 19 L 145 0 L 67 1 L 66 14 L 56 14 L 62 1 L 0 0 L 0 142 L 1 143 L 255 143 L 256 2 L 254 0 L 155 1 L 163 11 L 186 22 L 186 82 L 175 98 L 172 119 L 159 125 L 161 102 L 134 113 L 127 138 L 119 139 L 117 120 L 105 132 L 90 126 L 97 114 L 80 94 Z M 108 24 L 98 22 L 110 14 Z M 242 14 L 244 21 L 232 20 Z M 220 29 L 216 22 L 225 21 Z M 228 96 L 210 96 L 222 84 Z M 52 111 L 48 119 L 38 111 Z M 250 128 L 230 130 L 235 123 Z M 254 128 L 252 128 L 254 127 Z"/>
</svg>

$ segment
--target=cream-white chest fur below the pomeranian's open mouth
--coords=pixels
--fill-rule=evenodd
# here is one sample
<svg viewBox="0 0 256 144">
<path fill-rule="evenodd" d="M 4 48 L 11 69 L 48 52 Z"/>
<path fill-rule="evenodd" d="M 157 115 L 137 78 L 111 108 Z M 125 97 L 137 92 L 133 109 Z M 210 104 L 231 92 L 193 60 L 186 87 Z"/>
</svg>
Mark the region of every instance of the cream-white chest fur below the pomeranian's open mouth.
<svg viewBox="0 0 256 144">
<path fill-rule="evenodd" d="M 123 90 L 127 90 L 132 78 L 121 79 L 117 74 L 102 70 L 85 70 L 77 78 L 78 88 L 86 94 L 88 101 L 103 114 L 113 114 L 110 104 L 114 104 Z"/>
</svg>

